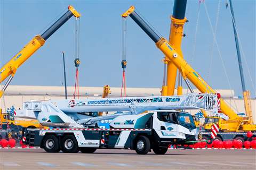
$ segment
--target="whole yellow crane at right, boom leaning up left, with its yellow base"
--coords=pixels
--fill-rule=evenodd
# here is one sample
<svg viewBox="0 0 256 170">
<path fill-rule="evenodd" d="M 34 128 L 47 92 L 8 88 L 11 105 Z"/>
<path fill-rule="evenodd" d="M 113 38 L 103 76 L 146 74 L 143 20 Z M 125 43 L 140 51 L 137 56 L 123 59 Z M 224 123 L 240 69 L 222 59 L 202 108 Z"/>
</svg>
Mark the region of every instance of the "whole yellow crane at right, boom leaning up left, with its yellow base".
<svg viewBox="0 0 256 170">
<path fill-rule="evenodd" d="M 122 17 L 124 18 L 127 16 L 130 16 L 139 25 L 139 27 L 145 31 L 154 43 L 156 43 L 157 48 L 159 48 L 168 60 L 172 61 L 172 63 L 179 69 L 189 88 L 191 87 L 188 80 L 190 80 L 197 89 L 203 93 L 216 93 L 216 91 L 203 80 L 203 78 L 183 59 L 182 56 L 179 55 L 175 48 L 168 43 L 165 38 L 159 37 L 157 33 L 151 29 L 145 21 L 143 21 L 140 15 L 135 11 L 134 6 L 131 6 L 129 10 L 122 14 Z M 220 105 L 221 112 L 229 117 L 228 120 L 220 122 L 219 126 L 221 131 L 256 131 L 256 125 L 251 124 L 248 117 L 238 116 L 222 98 L 219 99 L 218 104 Z"/>
</svg>

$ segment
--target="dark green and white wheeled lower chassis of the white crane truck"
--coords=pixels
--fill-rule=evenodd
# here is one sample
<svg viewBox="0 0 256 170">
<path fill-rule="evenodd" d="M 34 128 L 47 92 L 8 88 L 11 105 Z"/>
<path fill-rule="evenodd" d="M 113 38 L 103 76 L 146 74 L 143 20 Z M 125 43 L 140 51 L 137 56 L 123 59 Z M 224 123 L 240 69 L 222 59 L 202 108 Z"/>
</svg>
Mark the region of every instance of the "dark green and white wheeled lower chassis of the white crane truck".
<svg viewBox="0 0 256 170">
<path fill-rule="evenodd" d="M 169 145 L 182 139 L 160 139 L 154 129 L 27 129 L 25 144 L 45 149 L 46 152 L 93 153 L 96 149 L 132 149 L 137 154 L 165 154 Z M 193 136 L 193 137 L 192 137 Z M 195 136 L 189 137 L 195 141 Z"/>
</svg>

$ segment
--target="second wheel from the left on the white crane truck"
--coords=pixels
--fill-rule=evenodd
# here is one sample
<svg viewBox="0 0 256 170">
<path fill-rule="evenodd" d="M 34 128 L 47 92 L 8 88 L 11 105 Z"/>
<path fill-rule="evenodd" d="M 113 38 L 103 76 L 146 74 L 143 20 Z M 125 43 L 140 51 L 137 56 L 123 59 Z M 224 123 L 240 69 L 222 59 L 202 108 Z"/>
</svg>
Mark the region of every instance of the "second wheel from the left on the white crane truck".
<svg viewBox="0 0 256 170">
<path fill-rule="evenodd" d="M 61 150 L 65 153 L 77 153 L 79 151 L 76 138 L 73 135 L 66 135 L 60 142 Z"/>
</svg>

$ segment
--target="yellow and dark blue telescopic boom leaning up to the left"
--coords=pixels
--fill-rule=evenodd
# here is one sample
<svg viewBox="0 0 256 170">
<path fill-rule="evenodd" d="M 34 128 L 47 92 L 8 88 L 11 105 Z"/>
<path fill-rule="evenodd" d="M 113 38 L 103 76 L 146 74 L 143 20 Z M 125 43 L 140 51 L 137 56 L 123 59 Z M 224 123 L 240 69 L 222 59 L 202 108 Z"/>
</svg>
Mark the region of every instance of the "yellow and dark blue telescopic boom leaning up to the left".
<svg viewBox="0 0 256 170">
<path fill-rule="evenodd" d="M 131 8 L 131 7 L 130 7 Z M 203 93 L 217 93 L 213 90 L 209 84 L 207 84 L 203 78 L 184 60 L 176 50 L 168 43 L 165 38 L 159 37 L 153 29 L 149 27 L 149 25 L 143 21 L 143 19 L 135 12 L 134 6 L 132 7 L 133 11 L 130 14 L 123 14 L 131 16 L 131 18 L 141 27 L 142 30 L 147 33 L 147 35 L 156 43 L 157 48 L 159 48 L 165 56 L 171 60 L 175 66 L 181 72 L 183 78 L 189 79 L 198 90 Z M 129 11 L 129 10 L 128 10 Z M 126 16 L 126 17 L 127 17 Z M 223 114 L 229 116 L 230 120 L 234 119 L 241 119 L 234 111 L 231 109 L 228 104 L 223 100 L 220 99 L 220 109 Z"/>
</svg>

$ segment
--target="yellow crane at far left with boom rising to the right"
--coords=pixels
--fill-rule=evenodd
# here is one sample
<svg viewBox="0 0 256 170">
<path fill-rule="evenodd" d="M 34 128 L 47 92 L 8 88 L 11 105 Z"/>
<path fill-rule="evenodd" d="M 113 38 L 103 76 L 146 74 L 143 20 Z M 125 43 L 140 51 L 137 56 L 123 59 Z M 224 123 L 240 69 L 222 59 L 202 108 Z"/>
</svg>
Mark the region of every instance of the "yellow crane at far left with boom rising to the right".
<svg viewBox="0 0 256 170">
<path fill-rule="evenodd" d="M 45 41 L 51 37 L 51 35 L 57 31 L 66 21 L 68 21 L 72 16 L 79 18 L 81 14 L 79 14 L 75 8 L 71 5 L 68 6 L 68 11 L 63 14 L 55 23 L 51 25 L 42 35 L 36 35 L 32 40 L 29 41 L 25 47 L 23 47 L 19 53 L 14 55 L 9 62 L 7 62 L 1 69 L 0 69 L 0 83 L 2 83 L 6 78 L 7 79 L 3 89 L 0 91 L 0 98 L 3 96 L 4 91 L 9 86 L 10 82 L 12 81 L 17 69 L 26 61 L 28 58 L 33 55 L 40 47 L 42 47 Z M 6 114 L 1 113 L 2 117 Z M 5 117 L 7 118 L 7 117 Z M 4 121 L 4 119 L 2 120 Z M 23 123 L 22 123 L 23 122 Z M 15 123 L 15 121 L 14 121 Z M 35 126 L 35 122 L 30 121 L 20 121 L 18 124 L 27 124 L 27 126 Z M 35 126 L 38 128 L 38 125 Z"/>
</svg>

